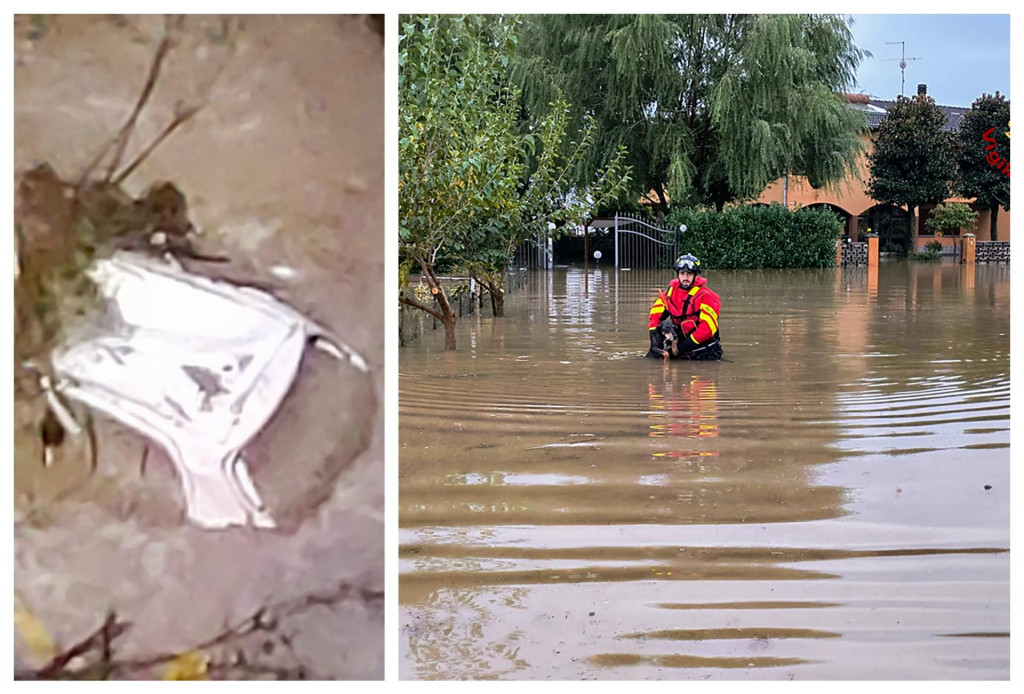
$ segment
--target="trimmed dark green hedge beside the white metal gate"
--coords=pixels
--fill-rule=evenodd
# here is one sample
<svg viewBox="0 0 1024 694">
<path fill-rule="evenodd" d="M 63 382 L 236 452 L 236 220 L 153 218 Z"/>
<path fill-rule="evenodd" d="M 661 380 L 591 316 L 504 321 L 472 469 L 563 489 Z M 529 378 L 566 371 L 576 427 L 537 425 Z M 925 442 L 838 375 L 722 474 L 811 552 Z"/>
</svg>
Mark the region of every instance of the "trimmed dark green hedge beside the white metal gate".
<svg viewBox="0 0 1024 694">
<path fill-rule="evenodd" d="M 692 253 L 711 269 L 835 267 L 843 224 L 827 209 L 787 210 L 781 205 L 743 206 L 723 212 L 676 210 L 665 225 L 678 228 L 680 253 Z"/>
</svg>

